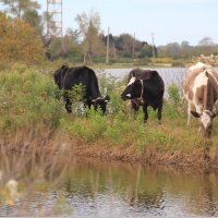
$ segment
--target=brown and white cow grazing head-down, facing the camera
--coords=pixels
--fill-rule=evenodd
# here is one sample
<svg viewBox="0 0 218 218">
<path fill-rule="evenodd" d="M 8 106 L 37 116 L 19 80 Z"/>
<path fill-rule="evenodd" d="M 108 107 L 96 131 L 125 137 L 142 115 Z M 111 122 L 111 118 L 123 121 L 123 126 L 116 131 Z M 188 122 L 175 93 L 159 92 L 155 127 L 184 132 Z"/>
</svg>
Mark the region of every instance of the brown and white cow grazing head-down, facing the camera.
<svg viewBox="0 0 218 218">
<path fill-rule="evenodd" d="M 187 124 L 191 113 L 199 119 L 199 132 L 210 137 L 213 120 L 218 114 L 214 105 L 218 99 L 218 74 L 202 62 L 192 65 L 183 83 L 183 93 L 187 100 Z"/>
</svg>

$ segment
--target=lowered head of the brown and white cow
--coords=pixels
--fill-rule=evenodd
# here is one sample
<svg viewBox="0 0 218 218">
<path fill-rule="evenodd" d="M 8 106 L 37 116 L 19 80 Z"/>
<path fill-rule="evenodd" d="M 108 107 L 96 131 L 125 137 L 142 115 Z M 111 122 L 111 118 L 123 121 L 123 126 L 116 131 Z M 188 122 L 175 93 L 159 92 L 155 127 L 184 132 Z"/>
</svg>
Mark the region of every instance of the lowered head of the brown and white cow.
<svg viewBox="0 0 218 218">
<path fill-rule="evenodd" d="M 211 129 L 213 129 L 213 120 L 218 114 L 218 110 L 214 110 L 213 112 L 209 110 L 204 110 L 202 113 L 196 111 L 191 111 L 191 113 L 199 119 L 199 132 L 204 137 L 210 137 Z"/>
</svg>

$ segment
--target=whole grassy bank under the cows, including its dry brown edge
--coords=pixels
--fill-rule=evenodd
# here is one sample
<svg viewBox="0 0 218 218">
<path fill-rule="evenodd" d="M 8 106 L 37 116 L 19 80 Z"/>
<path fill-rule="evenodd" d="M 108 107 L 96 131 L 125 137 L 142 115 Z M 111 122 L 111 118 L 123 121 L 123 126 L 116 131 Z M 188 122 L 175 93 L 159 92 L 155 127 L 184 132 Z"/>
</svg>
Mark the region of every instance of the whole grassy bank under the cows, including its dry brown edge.
<svg viewBox="0 0 218 218">
<path fill-rule="evenodd" d="M 166 75 L 169 76 L 168 70 Z M 145 165 L 217 168 L 218 120 L 214 120 L 211 142 L 204 142 L 197 134 L 197 119 L 186 125 L 186 102 L 180 98 L 177 85 L 172 83 L 166 90 L 169 97 L 165 99 L 159 125 L 157 112 L 150 108 L 146 124 L 142 109 L 136 116 L 131 112 L 130 102 L 120 98 L 123 81 L 102 76 L 99 82 L 111 97 L 106 116 L 93 108 L 81 108 L 81 102 L 75 102 L 68 114 L 64 102 L 57 98 L 61 93 L 52 76 L 21 64 L 1 72 L 1 153 L 9 154 L 9 160 L 15 152 L 29 153 L 28 157 L 34 158 L 48 157 L 51 161 L 60 154 Z"/>
</svg>

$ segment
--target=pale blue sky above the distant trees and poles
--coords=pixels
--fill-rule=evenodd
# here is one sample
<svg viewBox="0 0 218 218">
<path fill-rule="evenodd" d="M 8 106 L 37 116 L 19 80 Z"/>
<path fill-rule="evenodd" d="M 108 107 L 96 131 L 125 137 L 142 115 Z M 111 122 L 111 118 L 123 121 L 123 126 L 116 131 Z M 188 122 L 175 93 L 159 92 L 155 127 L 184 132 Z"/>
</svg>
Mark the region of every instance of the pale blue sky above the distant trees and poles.
<svg viewBox="0 0 218 218">
<path fill-rule="evenodd" d="M 47 0 L 37 0 L 41 11 Z M 63 29 L 78 28 L 75 17 L 98 12 L 100 28 L 114 36 L 128 33 L 156 46 L 189 41 L 196 46 L 204 37 L 218 44 L 218 0 L 62 0 Z"/>
</svg>

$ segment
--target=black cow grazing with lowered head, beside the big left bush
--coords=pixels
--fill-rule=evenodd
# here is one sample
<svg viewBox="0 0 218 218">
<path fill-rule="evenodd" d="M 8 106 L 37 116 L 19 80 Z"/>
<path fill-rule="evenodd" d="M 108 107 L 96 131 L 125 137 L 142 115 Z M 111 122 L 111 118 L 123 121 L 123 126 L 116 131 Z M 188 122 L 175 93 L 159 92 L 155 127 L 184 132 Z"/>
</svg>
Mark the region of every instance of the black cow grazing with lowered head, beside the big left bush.
<svg viewBox="0 0 218 218">
<path fill-rule="evenodd" d="M 106 105 L 110 97 L 107 95 L 105 98 L 101 97 L 98 80 L 95 72 L 87 66 L 75 66 L 69 68 L 68 65 L 62 65 L 53 74 L 56 84 L 60 89 L 63 89 L 63 97 L 65 100 L 65 109 L 70 113 L 72 112 L 72 97 L 69 95 L 69 90 L 72 89 L 74 85 L 82 84 L 84 87 L 83 101 L 85 106 L 93 105 L 95 110 L 100 107 L 101 111 L 105 113 Z"/>
</svg>

